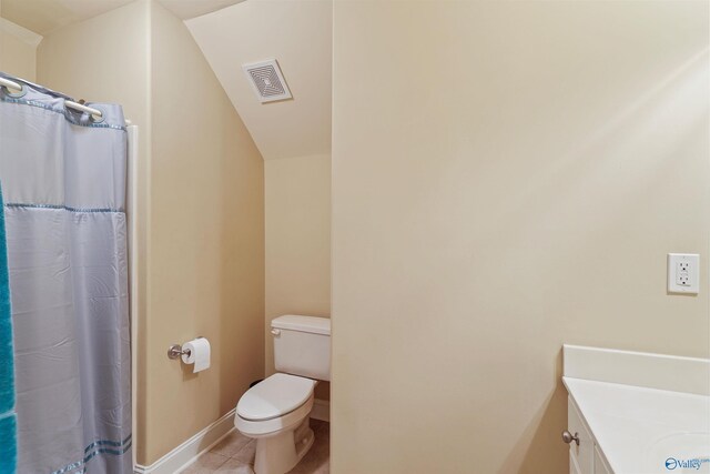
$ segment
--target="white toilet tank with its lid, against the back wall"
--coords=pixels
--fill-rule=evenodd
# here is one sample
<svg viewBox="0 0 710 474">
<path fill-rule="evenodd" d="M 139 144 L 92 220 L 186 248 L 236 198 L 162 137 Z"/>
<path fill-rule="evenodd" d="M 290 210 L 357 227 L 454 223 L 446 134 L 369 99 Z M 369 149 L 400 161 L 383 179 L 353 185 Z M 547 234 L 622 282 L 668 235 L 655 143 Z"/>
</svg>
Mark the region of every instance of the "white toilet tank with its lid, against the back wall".
<svg viewBox="0 0 710 474">
<path fill-rule="evenodd" d="M 331 320 L 280 316 L 271 322 L 274 365 L 277 372 L 331 380 Z"/>
</svg>

